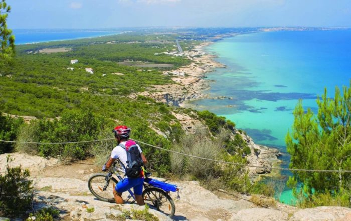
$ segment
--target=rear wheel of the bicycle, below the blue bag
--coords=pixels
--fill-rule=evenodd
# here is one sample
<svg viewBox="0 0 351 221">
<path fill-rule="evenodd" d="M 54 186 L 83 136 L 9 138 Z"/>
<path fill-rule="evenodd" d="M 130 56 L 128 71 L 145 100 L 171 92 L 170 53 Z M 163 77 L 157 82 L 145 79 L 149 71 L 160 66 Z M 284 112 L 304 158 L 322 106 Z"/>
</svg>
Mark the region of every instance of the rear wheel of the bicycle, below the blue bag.
<svg viewBox="0 0 351 221">
<path fill-rule="evenodd" d="M 175 205 L 170 196 L 158 188 L 146 188 L 142 192 L 144 202 L 154 207 L 156 210 L 172 217 L 175 212 Z"/>
</svg>

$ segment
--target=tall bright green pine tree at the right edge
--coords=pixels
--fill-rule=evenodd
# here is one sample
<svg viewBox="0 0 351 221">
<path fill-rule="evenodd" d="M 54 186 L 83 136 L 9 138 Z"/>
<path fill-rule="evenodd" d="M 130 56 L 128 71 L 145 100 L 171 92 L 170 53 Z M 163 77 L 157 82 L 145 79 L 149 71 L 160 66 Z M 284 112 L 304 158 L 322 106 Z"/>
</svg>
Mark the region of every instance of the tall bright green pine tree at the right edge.
<svg viewBox="0 0 351 221">
<path fill-rule="evenodd" d="M 351 81 L 350 81 L 351 86 Z M 317 98 L 318 114 L 304 111 L 300 100 L 293 112 L 292 133 L 286 136 L 291 154 L 290 168 L 319 170 L 351 169 L 351 87 L 335 88 L 334 98 L 327 98 L 324 89 Z M 312 191 L 338 193 L 351 190 L 350 173 L 294 172 L 289 183 L 303 184 L 307 194 Z"/>
</svg>

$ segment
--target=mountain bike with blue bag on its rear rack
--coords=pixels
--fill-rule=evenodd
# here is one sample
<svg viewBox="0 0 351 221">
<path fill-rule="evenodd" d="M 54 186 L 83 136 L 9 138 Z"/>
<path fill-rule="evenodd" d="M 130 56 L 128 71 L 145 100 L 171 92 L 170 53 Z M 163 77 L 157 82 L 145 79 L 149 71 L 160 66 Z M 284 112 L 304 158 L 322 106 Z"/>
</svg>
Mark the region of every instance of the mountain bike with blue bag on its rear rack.
<svg viewBox="0 0 351 221">
<path fill-rule="evenodd" d="M 88 180 L 88 188 L 90 192 L 99 200 L 105 202 L 114 202 L 113 189 L 118 181 L 122 180 L 123 177 L 119 172 L 124 173 L 121 168 L 116 167 L 116 162 L 111 166 L 107 173 L 96 173 L 93 174 Z M 116 177 L 112 176 L 115 174 Z M 142 198 L 144 202 L 155 208 L 156 210 L 172 217 L 175 212 L 175 205 L 170 197 L 170 192 L 177 192 L 177 199 L 179 196 L 179 187 L 176 185 L 165 183 L 156 179 L 149 178 L 151 173 L 145 173 L 144 179 L 144 191 L 142 192 Z M 112 182 L 111 182 L 112 181 Z M 135 202 L 135 196 L 131 189 L 127 191 L 129 193 L 126 200 L 132 198 L 132 202 Z"/>
</svg>

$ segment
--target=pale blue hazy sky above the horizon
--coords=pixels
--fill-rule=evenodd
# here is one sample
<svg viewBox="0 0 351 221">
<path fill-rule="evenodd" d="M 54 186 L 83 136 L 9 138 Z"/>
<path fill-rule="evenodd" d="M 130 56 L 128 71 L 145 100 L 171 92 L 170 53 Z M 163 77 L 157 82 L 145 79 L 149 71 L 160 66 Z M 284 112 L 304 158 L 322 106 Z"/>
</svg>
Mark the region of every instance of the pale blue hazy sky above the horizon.
<svg viewBox="0 0 351 221">
<path fill-rule="evenodd" d="M 7 0 L 11 29 L 351 27 L 351 0 Z"/>
</svg>

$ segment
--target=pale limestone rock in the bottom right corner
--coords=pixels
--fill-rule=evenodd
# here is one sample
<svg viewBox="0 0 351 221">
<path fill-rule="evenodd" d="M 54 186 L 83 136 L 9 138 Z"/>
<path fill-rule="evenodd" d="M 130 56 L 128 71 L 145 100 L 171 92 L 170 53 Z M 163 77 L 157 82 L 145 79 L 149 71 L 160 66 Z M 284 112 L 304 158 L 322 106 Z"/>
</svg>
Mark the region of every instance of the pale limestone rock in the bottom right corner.
<svg viewBox="0 0 351 221">
<path fill-rule="evenodd" d="M 346 221 L 351 220 L 351 208 L 319 206 L 295 212 L 289 221 Z"/>
</svg>

